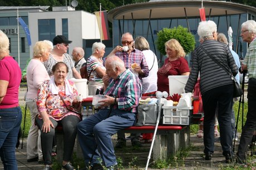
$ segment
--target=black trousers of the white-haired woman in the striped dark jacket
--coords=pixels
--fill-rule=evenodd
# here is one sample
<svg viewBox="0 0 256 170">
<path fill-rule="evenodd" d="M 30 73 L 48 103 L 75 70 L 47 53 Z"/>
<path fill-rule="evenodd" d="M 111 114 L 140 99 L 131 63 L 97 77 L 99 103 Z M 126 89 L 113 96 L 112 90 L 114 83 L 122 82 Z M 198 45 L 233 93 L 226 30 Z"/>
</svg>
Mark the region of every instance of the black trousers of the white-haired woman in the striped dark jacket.
<svg viewBox="0 0 256 170">
<path fill-rule="evenodd" d="M 214 152 L 214 120 L 218 109 L 220 143 L 223 155 L 232 152 L 231 111 L 233 84 L 216 87 L 202 94 L 204 107 L 204 153 Z"/>
</svg>

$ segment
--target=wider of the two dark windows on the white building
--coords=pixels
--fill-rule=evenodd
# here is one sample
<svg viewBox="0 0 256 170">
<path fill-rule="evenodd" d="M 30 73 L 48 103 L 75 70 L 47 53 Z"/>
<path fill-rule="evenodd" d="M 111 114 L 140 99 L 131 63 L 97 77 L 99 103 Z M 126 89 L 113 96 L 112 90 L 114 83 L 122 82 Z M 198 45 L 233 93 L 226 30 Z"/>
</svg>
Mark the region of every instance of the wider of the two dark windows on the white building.
<svg viewBox="0 0 256 170">
<path fill-rule="evenodd" d="M 52 41 L 55 34 L 55 19 L 38 19 L 38 40 Z"/>
</svg>

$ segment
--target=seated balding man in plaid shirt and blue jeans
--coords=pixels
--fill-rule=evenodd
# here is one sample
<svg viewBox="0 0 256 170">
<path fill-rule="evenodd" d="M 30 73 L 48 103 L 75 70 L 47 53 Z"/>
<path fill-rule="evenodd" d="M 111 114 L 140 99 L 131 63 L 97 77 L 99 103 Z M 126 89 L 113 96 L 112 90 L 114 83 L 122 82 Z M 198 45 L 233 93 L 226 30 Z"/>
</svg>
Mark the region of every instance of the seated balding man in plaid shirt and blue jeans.
<svg viewBox="0 0 256 170">
<path fill-rule="evenodd" d="M 99 163 L 101 158 L 107 169 L 112 170 L 117 169 L 117 162 L 111 136 L 136 123 L 136 107 L 139 105 L 142 86 L 119 57 L 108 57 L 105 66 L 106 74 L 111 79 L 109 85 L 104 87 L 106 98 L 99 101 L 103 108 L 78 123 L 77 135 L 87 168 L 95 153 L 91 169 L 103 169 Z M 111 105 L 112 110 L 107 108 Z"/>
</svg>

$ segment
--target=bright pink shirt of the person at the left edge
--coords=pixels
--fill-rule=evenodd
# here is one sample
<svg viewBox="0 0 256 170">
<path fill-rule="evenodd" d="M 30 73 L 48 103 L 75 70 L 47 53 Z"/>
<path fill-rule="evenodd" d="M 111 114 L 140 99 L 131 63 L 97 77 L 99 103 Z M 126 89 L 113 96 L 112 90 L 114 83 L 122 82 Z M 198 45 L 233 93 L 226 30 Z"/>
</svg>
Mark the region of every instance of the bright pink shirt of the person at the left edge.
<svg viewBox="0 0 256 170">
<path fill-rule="evenodd" d="M 18 91 L 21 83 L 21 69 L 12 56 L 5 56 L 0 60 L 0 70 L 0 80 L 9 82 L 6 96 L 3 97 L 0 109 L 17 107 L 19 106 Z"/>
</svg>

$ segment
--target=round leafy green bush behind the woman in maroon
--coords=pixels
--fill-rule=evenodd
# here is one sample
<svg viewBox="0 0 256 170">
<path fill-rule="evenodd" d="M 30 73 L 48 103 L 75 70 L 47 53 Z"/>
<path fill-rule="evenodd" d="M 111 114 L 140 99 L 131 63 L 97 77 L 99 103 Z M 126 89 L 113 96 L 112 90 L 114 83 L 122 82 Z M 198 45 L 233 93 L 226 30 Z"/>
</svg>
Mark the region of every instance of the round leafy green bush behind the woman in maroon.
<svg viewBox="0 0 256 170">
<path fill-rule="evenodd" d="M 161 54 L 165 55 L 165 42 L 170 39 L 176 39 L 183 47 L 186 54 L 195 48 L 195 37 L 188 32 L 187 28 L 179 25 L 177 28 L 164 28 L 157 33 L 156 45 Z"/>
</svg>

